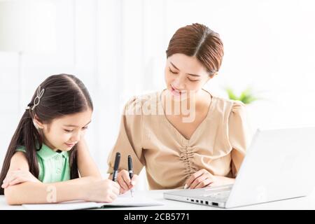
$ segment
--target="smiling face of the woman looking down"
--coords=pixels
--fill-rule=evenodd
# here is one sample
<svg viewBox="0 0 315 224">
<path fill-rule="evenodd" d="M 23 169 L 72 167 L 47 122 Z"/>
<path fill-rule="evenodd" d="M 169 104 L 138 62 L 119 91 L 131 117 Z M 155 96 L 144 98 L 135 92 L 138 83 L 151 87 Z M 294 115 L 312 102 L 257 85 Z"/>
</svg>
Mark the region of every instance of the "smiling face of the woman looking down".
<svg viewBox="0 0 315 224">
<path fill-rule="evenodd" d="M 196 57 L 174 54 L 167 58 L 165 82 L 167 90 L 174 97 L 187 97 L 197 94 L 211 78 L 207 69 Z"/>
</svg>

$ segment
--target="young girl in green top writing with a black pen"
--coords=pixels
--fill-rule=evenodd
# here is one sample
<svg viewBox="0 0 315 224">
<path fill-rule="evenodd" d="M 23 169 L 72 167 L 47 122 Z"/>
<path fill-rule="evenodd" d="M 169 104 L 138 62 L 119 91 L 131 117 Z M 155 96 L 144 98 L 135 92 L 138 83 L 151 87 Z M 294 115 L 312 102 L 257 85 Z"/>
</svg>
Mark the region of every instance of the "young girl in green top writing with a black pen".
<svg viewBox="0 0 315 224">
<path fill-rule="evenodd" d="M 82 142 L 93 111 L 75 76 L 50 76 L 39 85 L 8 146 L 0 195 L 8 204 L 86 200 L 113 202 L 119 185 L 102 180 Z"/>
</svg>

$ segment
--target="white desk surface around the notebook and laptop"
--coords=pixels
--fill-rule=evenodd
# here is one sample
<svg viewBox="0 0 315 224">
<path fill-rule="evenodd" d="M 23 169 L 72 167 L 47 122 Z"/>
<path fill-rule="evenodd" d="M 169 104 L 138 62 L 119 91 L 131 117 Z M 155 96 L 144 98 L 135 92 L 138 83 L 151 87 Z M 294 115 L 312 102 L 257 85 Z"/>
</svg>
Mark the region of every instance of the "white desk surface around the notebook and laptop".
<svg viewBox="0 0 315 224">
<path fill-rule="evenodd" d="M 163 193 L 169 190 L 141 190 L 138 191 L 137 194 L 141 194 L 141 196 L 146 195 L 146 197 L 158 200 L 162 202 L 164 205 L 162 206 L 154 206 L 154 207 L 119 207 L 119 208 L 106 208 L 108 209 L 127 209 L 127 210 L 211 210 L 211 209 L 219 209 L 215 207 L 209 207 L 199 204 L 191 204 L 187 202 L 176 202 L 173 200 L 165 200 L 163 198 Z M 6 209 L 24 209 L 22 206 L 9 206 L 6 204 L 6 199 L 3 195 L 0 195 L 0 210 Z M 315 191 L 308 195 L 307 197 L 299 197 L 290 200 L 281 200 L 277 202 L 269 202 L 264 204 L 255 204 L 246 207 L 238 207 L 235 209 L 315 209 Z"/>
</svg>

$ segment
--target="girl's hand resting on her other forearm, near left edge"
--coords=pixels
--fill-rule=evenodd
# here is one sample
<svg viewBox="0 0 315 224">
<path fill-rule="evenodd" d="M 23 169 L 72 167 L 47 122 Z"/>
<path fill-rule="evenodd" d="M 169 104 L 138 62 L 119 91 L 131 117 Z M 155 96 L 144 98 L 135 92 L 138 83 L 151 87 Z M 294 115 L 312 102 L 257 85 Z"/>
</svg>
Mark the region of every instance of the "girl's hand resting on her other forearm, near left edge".
<svg viewBox="0 0 315 224">
<path fill-rule="evenodd" d="M 1 185 L 1 188 L 8 188 L 9 186 L 13 186 L 18 183 L 24 183 L 24 182 L 41 182 L 38 179 L 36 179 L 31 172 L 27 170 L 13 170 L 8 172 L 6 174 L 6 178 L 3 180 L 3 183 Z"/>
</svg>

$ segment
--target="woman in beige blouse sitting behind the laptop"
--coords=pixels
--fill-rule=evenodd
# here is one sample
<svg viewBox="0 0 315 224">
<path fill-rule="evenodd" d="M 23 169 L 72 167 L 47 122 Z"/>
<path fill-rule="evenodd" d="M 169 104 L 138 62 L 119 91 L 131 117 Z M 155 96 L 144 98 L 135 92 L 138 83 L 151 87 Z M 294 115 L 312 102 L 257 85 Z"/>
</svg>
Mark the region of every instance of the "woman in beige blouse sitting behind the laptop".
<svg viewBox="0 0 315 224">
<path fill-rule="evenodd" d="M 193 24 L 176 31 L 167 48 L 167 89 L 134 97 L 125 106 L 108 161 L 112 174 L 120 152 L 120 193 L 137 183 L 143 167 L 155 190 L 234 183 L 248 139 L 244 104 L 202 89 L 218 74 L 222 59 L 223 43 L 208 27 Z"/>
</svg>

